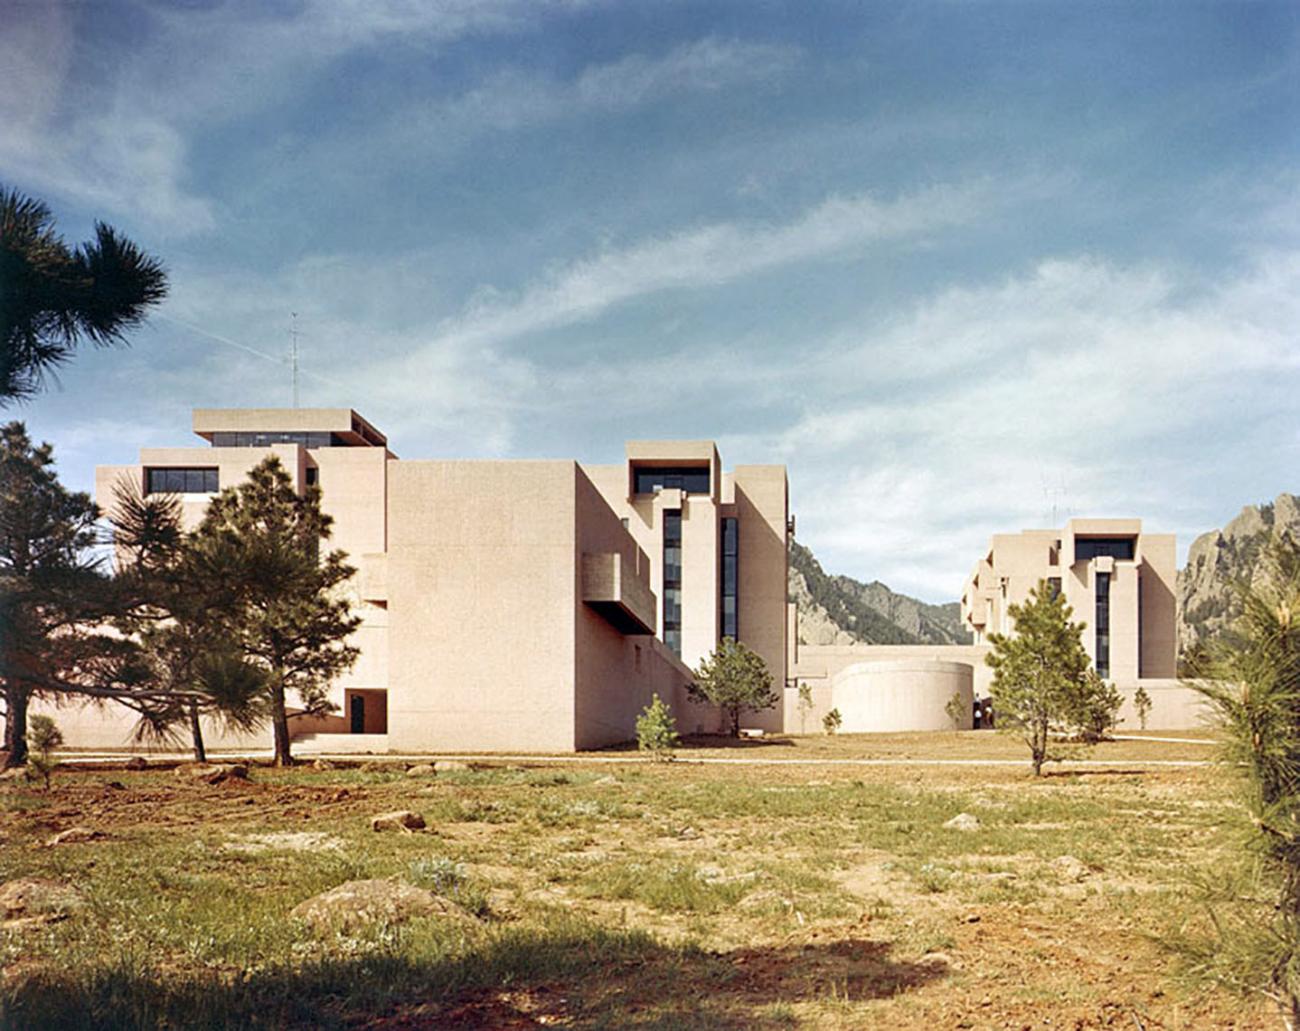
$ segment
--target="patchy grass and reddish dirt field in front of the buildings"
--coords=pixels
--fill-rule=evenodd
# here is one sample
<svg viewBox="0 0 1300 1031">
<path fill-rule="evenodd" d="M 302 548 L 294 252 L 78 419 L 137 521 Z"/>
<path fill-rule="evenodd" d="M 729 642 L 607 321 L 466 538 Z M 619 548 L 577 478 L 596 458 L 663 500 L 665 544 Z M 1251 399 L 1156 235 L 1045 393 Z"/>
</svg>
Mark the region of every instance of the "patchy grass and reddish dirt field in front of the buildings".
<svg viewBox="0 0 1300 1031">
<path fill-rule="evenodd" d="M 1178 735 L 1187 737 L 1188 735 Z M 1195 737 L 1195 735 L 1192 736 Z M 707 744 L 707 742 L 702 742 Z M 716 742 L 712 742 L 716 744 Z M 1019 766 L 70 770 L 0 788 L 0 881 L 77 887 L 0 932 L 6 1027 L 1273 1027 L 1161 939 L 1243 815 L 1202 744 Z M 793 738 L 731 758 L 1020 758 L 996 735 Z M 633 759 L 636 757 L 628 755 Z M 415 833 L 369 816 L 411 809 Z M 945 829 L 970 813 L 975 831 Z M 104 837 L 46 846 L 79 826 Z M 455 918 L 317 936 L 289 918 L 398 878 Z"/>
</svg>

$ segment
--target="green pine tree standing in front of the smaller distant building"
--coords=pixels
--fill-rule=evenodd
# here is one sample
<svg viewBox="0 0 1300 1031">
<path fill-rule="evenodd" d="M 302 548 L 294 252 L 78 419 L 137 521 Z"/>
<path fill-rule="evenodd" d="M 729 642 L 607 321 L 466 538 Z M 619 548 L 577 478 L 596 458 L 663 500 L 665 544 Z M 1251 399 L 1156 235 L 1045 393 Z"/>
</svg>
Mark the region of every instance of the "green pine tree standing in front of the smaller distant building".
<svg viewBox="0 0 1300 1031">
<path fill-rule="evenodd" d="M 1060 762 L 1050 749 L 1050 736 L 1071 728 L 1084 711 L 1082 698 L 1089 690 L 1089 660 L 1083 649 L 1083 624 L 1071 623 L 1065 597 L 1045 580 L 1030 592 L 1024 605 L 1008 608 L 1015 633 L 989 634 L 993 651 L 991 694 L 998 725 L 1020 732 L 1030 746 L 1035 776 L 1043 763 Z"/>
</svg>

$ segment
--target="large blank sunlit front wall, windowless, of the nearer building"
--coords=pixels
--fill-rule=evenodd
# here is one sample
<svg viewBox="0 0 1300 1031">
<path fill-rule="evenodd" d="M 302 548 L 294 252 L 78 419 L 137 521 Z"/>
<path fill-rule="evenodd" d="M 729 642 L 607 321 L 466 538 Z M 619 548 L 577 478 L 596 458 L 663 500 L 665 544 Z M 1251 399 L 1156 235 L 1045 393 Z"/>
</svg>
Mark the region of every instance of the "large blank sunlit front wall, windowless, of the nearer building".
<svg viewBox="0 0 1300 1031">
<path fill-rule="evenodd" d="M 389 469 L 389 741 L 573 748 L 572 462 Z"/>
</svg>

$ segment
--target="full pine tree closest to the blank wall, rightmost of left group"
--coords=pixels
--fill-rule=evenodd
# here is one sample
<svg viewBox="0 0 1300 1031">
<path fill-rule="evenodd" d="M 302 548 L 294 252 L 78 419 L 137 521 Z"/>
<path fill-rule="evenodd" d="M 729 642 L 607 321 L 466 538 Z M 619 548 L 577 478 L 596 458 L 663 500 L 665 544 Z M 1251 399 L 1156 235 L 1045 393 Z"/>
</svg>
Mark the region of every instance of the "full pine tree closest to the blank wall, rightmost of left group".
<svg viewBox="0 0 1300 1031">
<path fill-rule="evenodd" d="M 330 681 L 360 654 L 346 642 L 360 619 L 337 592 L 355 571 L 342 551 L 320 554 L 330 523 L 320 488 L 299 494 L 270 456 L 213 498 L 194 534 L 204 575 L 237 592 L 229 632 L 238 654 L 264 673 L 277 766 L 292 762 L 287 698 L 296 696 L 308 714 L 332 711 Z"/>
</svg>

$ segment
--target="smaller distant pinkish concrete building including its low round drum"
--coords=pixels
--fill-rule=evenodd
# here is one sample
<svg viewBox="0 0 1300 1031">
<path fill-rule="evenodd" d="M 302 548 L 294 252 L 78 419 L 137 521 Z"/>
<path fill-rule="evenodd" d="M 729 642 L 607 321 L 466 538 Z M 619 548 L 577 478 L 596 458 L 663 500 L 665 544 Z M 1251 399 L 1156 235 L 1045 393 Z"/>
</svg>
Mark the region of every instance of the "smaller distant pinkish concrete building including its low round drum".
<svg viewBox="0 0 1300 1031">
<path fill-rule="evenodd" d="M 962 590 L 970 645 L 801 645 L 793 614 L 785 724 L 815 728 L 836 707 L 846 732 L 950 727 L 946 701 L 988 696 L 988 636 L 1014 633 L 1010 606 L 1024 602 L 1043 580 L 1065 594 L 1074 619 L 1086 624 L 1089 658 L 1124 699 L 1122 729 L 1139 725 L 1132 705 L 1139 686 L 1152 699 L 1148 728 L 1197 727 L 1200 697 L 1174 679 L 1175 562 L 1173 534 L 1144 533 L 1141 520 L 1075 519 L 1062 529 L 992 538 Z M 798 706 L 800 684 L 811 688 L 810 709 Z"/>
</svg>

